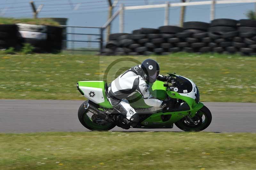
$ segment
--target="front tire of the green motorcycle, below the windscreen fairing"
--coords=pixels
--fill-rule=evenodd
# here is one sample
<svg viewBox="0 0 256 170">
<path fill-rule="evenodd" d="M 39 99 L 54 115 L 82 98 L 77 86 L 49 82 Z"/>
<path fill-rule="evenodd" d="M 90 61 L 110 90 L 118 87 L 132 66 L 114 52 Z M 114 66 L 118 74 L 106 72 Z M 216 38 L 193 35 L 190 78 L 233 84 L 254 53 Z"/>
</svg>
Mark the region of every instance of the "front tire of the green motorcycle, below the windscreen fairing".
<svg viewBox="0 0 256 170">
<path fill-rule="evenodd" d="M 196 116 L 192 119 L 197 120 L 196 124 L 191 124 L 190 122 L 186 121 L 185 118 L 182 118 L 181 120 L 177 121 L 175 125 L 184 131 L 199 132 L 206 129 L 210 125 L 212 122 L 212 113 L 206 106 L 203 106 L 197 111 Z"/>
</svg>

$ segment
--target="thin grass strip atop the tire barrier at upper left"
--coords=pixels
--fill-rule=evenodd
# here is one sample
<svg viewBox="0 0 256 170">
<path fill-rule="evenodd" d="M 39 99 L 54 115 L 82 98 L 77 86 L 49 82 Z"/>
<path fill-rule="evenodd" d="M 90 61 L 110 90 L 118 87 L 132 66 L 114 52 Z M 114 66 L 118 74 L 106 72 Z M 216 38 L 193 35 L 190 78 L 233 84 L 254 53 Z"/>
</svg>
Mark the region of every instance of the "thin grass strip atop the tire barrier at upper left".
<svg viewBox="0 0 256 170">
<path fill-rule="evenodd" d="M 52 26 L 60 25 L 58 22 L 53 21 L 52 19 L 48 19 L 48 18 L 37 18 L 37 19 L 20 18 L 20 19 L 15 19 L 15 18 L 0 17 L 0 24 L 17 24 L 17 23 L 36 24 L 36 25 L 52 25 Z"/>
</svg>

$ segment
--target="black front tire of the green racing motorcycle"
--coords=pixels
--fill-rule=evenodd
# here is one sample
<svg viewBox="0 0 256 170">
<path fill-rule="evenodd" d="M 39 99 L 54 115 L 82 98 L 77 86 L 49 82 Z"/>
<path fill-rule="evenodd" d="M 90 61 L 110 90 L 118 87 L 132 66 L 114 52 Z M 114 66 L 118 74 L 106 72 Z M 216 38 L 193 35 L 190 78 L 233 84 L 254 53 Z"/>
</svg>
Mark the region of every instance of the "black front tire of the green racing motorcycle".
<svg viewBox="0 0 256 170">
<path fill-rule="evenodd" d="M 196 125 L 196 126 L 192 127 L 191 125 L 188 125 L 187 123 L 184 122 L 185 118 L 182 118 L 181 120 L 175 122 L 175 125 L 179 129 L 184 130 L 184 131 L 202 131 L 202 130 L 206 129 L 212 122 L 212 113 L 206 106 L 203 106 L 199 110 L 199 112 L 203 112 L 203 115 L 205 116 L 205 120 L 204 120 L 204 122 L 201 122 L 202 123 L 201 125 Z M 199 114 L 196 114 L 195 117 L 200 118 L 201 116 Z"/>
</svg>

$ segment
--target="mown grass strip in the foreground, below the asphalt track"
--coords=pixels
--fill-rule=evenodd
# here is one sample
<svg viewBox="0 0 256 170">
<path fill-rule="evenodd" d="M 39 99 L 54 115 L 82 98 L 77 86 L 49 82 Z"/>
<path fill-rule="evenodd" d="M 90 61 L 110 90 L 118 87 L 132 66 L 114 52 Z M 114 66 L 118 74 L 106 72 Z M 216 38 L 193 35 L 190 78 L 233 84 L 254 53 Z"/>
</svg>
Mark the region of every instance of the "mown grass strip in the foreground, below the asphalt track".
<svg viewBox="0 0 256 170">
<path fill-rule="evenodd" d="M 0 134 L 0 169 L 250 170 L 255 141 L 255 133 Z"/>
</svg>

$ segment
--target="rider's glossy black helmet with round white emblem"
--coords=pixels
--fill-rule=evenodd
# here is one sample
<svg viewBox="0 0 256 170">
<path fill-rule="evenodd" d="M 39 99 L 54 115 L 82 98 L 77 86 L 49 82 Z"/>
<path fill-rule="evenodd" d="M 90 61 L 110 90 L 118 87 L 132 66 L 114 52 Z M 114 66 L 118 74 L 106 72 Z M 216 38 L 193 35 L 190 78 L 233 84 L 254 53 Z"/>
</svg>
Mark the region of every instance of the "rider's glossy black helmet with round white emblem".
<svg viewBox="0 0 256 170">
<path fill-rule="evenodd" d="M 145 59 L 141 63 L 142 69 L 142 76 L 146 79 L 149 83 L 153 83 L 156 81 L 157 76 L 159 75 L 159 65 L 153 59 Z"/>
</svg>

